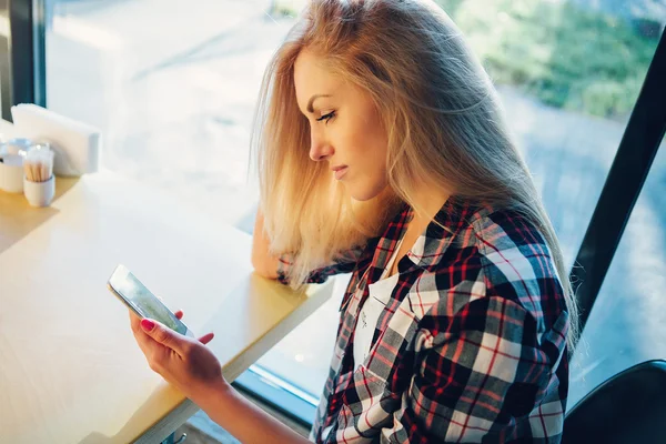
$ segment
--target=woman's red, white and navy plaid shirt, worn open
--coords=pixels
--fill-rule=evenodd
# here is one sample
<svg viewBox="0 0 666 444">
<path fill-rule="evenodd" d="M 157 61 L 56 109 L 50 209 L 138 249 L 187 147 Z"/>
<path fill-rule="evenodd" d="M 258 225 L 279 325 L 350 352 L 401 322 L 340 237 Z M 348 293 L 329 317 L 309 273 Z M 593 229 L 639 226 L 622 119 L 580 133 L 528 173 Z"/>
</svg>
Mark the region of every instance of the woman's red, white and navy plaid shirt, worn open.
<svg viewBox="0 0 666 444">
<path fill-rule="evenodd" d="M 568 313 L 539 232 L 511 211 L 450 199 L 386 295 L 366 360 L 353 337 L 413 211 L 381 238 L 312 272 L 353 272 L 311 438 L 317 443 L 558 443 Z M 354 259 L 351 259 L 354 258 Z M 289 260 L 282 261 L 285 281 Z"/>
</svg>

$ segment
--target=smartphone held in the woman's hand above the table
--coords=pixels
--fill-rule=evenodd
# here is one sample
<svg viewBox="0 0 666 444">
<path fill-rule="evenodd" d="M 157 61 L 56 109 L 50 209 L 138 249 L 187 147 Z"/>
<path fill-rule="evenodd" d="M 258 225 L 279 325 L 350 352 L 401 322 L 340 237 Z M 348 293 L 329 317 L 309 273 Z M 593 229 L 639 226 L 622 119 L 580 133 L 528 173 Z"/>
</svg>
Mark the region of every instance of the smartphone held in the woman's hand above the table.
<svg viewBox="0 0 666 444">
<path fill-rule="evenodd" d="M 194 336 L 190 329 L 150 292 L 124 265 L 118 265 L 109 278 L 109 290 L 115 294 L 139 317 L 160 321 L 171 330 Z"/>
</svg>

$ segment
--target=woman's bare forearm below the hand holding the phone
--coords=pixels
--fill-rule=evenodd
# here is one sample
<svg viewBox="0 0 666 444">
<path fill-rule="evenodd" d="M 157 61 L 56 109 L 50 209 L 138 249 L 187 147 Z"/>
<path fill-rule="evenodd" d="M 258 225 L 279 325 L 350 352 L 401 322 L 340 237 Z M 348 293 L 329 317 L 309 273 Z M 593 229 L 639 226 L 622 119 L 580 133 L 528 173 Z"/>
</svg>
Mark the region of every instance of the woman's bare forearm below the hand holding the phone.
<svg viewBox="0 0 666 444">
<path fill-rule="evenodd" d="M 246 444 L 310 443 L 221 381 L 194 401 L 215 423 Z"/>
</svg>

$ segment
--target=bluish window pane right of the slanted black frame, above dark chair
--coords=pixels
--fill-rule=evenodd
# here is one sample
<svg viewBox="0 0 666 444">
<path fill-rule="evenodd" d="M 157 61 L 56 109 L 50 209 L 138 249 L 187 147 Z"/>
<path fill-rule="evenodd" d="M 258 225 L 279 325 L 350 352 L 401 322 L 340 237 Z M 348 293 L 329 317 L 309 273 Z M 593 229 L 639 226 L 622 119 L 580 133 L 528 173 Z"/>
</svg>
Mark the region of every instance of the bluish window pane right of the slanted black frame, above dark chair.
<svg viewBox="0 0 666 444">
<path fill-rule="evenodd" d="M 574 353 L 569 407 L 632 365 L 666 359 L 665 285 L 663 141 Z"/>
</svg>

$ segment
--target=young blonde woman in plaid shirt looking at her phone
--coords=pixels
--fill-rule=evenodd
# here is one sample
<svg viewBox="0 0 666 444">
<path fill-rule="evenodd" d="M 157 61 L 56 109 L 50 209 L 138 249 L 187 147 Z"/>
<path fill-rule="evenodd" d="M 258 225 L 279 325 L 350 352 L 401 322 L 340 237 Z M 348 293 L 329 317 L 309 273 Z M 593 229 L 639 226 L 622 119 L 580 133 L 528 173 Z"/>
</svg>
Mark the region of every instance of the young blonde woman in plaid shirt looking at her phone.
<svg viewBox="0 0 666 444">
<path fill-rule="evenodd" d="M 576 306 L 488 77 L 430 1 L 315 0 L 268 68 L 253 264 L 351 272 L 311 438 L 557 443 Z M 182 313 L 179 313 L 182 315 Z M 200 342 L 132 317 L 153 370 L 246 443 L 301 442 Z"/>
</svg>

